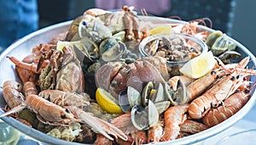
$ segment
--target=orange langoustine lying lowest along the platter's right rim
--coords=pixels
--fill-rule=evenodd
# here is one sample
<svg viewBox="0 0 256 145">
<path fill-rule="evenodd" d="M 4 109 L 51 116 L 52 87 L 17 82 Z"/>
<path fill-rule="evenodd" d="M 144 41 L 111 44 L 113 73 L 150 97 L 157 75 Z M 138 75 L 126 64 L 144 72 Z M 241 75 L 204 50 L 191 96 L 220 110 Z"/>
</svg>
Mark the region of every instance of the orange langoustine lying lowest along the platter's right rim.
<svg viewBox="0 0 256 145">
<path fill-rule="evenodd" d="M 211 109 L 208 114 L 203 118 L 205 125 L 213 126 L 218 125 L 230 118 L 233 114 L 236 114 L 242 106 L 247 103 L 250 98 L 250 93 L 247 90 L 235 92 L 224 100 L 224 106 L 219 106 L 217 109 Z"/>
</svg>

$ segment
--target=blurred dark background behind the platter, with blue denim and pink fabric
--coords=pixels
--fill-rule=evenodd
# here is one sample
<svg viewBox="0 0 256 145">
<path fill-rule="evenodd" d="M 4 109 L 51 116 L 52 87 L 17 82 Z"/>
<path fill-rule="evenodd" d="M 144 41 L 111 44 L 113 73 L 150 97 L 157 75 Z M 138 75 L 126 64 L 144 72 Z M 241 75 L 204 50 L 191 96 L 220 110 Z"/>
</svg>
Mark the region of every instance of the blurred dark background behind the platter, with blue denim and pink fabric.
<svg viewBox="0 0 256 145">
<path fill-rule="evenodd" d="M 0 53 L 4 47 L 11 43 L 7 43 L 9 37 L 12 37 L 12 41 L 14 41 L 46 26 L 74 20 L 89 8 L 119 9 L 128 3 L 128 6 L 135 6 L 137 9 L 145 8 L 148 14 L 155 16 L 178 16 L 182 20 L 209 18 L 212 20 L 212 29 L 223 31 L 236 41 L 241 42 L 254 55 L 256 54 L 256 48 L 254 48 L 256 47 L 254 40 L 256 17 L 253 16 L 256 14 L 255 0 L 10 0 L 9 2 L 12 3 L 9 5 L 4 0 L 0 0 L 0 2 L 3 6 L 2 10 L 0 9 L 0 14 L 2 14 L 0 15 L 0 25 L 9 25 L 6 28 L 3 26 L 0 28 L 0 42 L 2 44 L 0 45 Z M 35 5 L 33 9 L 29 9 L 29 4 L 32 3 L 37 3 L 38 7 Z M 12 12 L 17 11 L 16 14 L 8 16 L 9 12 L 4 10 L 5 6 L 11 8 Z M 19 11 L 24 14 L 27 13 L 26 16 L 21 17 Z M 28 15 L 28 12 L 34 14 Z M 35 24 L 35 22 L 32 23 L 32 18 L 35 21 L 38 20 L 36 23 L 38 26 L 33 25 L 33 30 L 26 31 L 26 33 L 14 30 L 21 28 L 23 24 L 29 28 L 29 23 Z M 9 20 L 7 24 L 5 19 Z M 23 26 L 24 31 L 26 28 Z M 9 35 L 7 29 L 12 29 L 12 35 Z M 3 43 L 6 44 L 3 45 Z"/>
</svg>

